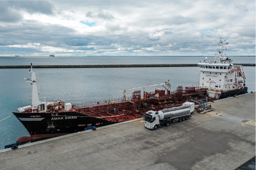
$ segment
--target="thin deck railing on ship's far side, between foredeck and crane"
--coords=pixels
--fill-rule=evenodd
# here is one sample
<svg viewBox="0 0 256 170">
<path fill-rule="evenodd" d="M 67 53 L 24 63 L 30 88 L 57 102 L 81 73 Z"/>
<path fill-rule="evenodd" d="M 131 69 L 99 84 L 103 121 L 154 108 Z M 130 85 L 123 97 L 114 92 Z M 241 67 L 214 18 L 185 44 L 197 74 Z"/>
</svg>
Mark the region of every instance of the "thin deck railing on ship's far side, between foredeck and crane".
<svg viewBox="0 0 256 170">
<path fill-rule="evenodd" d="M 90 106 L 99 106 L 99 105 L 108 105 L 108 104 L 115 104 L 115 103 L 121 103 L 131 101 L 131 97 L 122 97 L 122 98 L 116 98 L 116 99 L 108 99 L 108 100 L 100 100 L 100 101 L 89 101 L 86 103 L 75 103 L 72 104 L 72 107 L 74 108 L 81 108 L 81 107 L 90 107 Z"/>
</svg>

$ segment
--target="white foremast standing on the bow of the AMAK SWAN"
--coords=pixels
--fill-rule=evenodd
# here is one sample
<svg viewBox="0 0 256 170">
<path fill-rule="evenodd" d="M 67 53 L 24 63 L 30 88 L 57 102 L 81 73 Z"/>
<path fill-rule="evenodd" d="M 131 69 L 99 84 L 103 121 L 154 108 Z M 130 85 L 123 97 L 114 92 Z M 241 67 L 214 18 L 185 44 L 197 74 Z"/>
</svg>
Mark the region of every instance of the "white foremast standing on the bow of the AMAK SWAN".
<svg viewBox="0 0 256 170">
<path fill-rule="evenodd" d="M 42 101 L 39 100 L 38 90 L 37 90 L 37 82 L 36 82 L 36 72 L 32 69 L 32 63 L 31 63 L 31 70 L 29 70 L 31 73 L 31 80 L 27 79 L 27 82 L 29 82 L 32 85 L 32 111 L 34 109 L 38 109 L 39 105 L 43 104 Z"/>
</svg>

